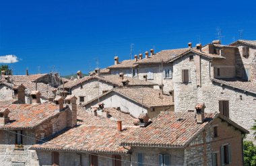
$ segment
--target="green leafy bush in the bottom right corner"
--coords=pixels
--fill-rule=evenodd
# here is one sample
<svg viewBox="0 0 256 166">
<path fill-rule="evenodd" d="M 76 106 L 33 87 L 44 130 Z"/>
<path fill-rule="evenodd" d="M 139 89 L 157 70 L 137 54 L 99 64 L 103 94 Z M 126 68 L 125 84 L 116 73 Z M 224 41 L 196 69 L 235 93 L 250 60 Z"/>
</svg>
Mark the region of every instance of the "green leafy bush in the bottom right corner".
<svg viewBox="0 0 256 166">
<path fill-rule="evenodd" d="M 256 146 L 248 140 L 244 141 L 244 159 L 245 166 L 256 165 Z"/>
</svg>

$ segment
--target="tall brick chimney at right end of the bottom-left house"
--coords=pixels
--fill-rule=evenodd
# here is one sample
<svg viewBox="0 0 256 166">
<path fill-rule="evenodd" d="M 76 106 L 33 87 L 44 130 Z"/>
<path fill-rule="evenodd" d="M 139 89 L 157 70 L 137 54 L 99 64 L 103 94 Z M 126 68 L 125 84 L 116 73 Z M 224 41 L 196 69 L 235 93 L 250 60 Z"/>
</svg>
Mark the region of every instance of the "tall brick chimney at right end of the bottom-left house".
<svg viewBox="0 0 256 166">
<path fill-rule="evenodd" d="M 69 103 L 67 106 L 69 107 L 69 111 L 67 112 L 67 126 L 73 127 L 77 124 L 77 97 L 75 95 L 67 95 L 65 101 Z"/>
</svg>

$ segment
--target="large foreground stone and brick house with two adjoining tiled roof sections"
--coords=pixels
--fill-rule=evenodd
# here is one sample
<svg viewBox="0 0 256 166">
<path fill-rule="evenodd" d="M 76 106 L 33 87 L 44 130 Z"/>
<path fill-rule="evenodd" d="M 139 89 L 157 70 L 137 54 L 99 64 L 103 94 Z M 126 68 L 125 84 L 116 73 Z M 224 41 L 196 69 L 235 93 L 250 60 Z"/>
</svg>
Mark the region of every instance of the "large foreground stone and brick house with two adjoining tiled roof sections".
<svg viewBox="0 0 256 166">
<path fill-rule="evenodd" d="M 80 126 L 31 149 L 40 165 L 243 165 L 248 131 L 202 106 L 196 116 L 162 112 L 141 127 L 84 112 Z"/>
</svg>

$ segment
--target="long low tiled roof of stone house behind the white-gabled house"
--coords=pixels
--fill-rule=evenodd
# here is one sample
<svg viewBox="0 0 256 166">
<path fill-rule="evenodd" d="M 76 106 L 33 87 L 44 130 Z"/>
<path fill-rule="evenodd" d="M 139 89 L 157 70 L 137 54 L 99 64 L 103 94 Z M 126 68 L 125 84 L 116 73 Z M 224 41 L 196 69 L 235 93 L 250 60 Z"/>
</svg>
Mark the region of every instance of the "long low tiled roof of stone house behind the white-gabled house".
<svg viewBox="0 0 256 166">
<path fill-rule="evenodd" d="M 119 77 L 119 75 L 102 75 L 102 76 L 89 76 L 89 77 L 84 77 L 82 79 L 76 79 L 75 81 L 69 81 L 67 83 L 65 83 L 64 85 L 60 85 L 59 87 L 60 88 L 71 88 L 71 87 L 75 87 L 77 85 L 80 85 L 81 83 L 84 83 L 86 81 L 89 81 L 91 79 L 98 79 L 100 81 L 104 81 L 106 83 L 111 83 L 113 85 L 117 85 L 117 86 L 120 86 L 122 87 L 123 86 L 123 83 L 122 83 L 122 80 L 121 78 Z M 128 86 L 132 86 L 132 85 L 136 85 L 136 86 L 148 86 L 148 85 L 157 85 L 156 83 L 152 83 L 152 82 L 149 82 L 149 81 L 143 81 L 143 80 L 140 80 L 140 79 L 133 79 L 131 77 L 125 77 L 124 76 L 124 79 L 128 79 L 129 80 L 129 83 L 128 83 Z"/>
</svg>

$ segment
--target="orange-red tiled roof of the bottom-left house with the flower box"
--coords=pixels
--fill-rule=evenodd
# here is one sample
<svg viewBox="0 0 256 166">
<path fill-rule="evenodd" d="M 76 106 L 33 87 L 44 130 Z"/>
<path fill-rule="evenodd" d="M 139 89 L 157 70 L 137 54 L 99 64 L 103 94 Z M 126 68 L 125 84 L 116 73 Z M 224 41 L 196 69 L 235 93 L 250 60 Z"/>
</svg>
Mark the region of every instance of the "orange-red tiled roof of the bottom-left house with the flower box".
<svg viewBox="0 0 256 166">
<path fill-rule="evenodd" d="M 10 122 L 0 128 L 34 128 L 59 114 L 59 106 L 53 103 L 11 104 L 1 107 L 9 109 Z"/>
</svg>

